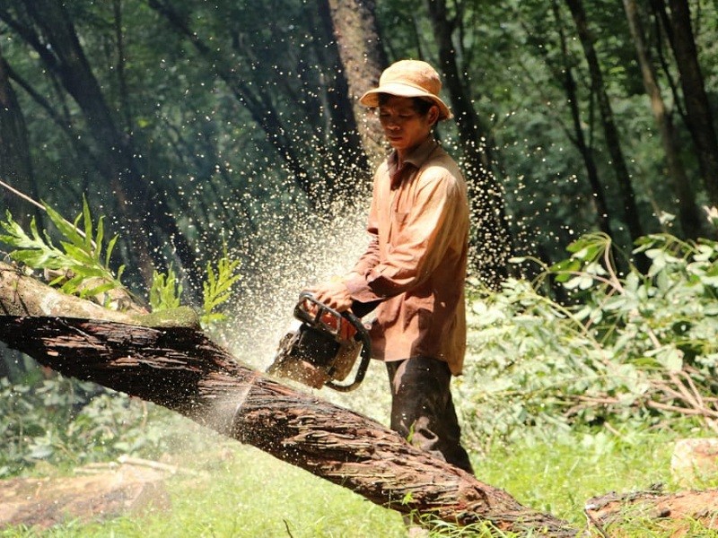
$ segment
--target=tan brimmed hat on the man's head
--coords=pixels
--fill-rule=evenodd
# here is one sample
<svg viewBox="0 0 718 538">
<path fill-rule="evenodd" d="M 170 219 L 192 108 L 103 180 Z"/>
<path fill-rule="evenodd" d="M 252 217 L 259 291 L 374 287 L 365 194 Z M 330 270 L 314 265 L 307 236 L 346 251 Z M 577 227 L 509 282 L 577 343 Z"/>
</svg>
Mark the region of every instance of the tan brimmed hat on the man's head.
<svg viewBox="0 0 718 538">
<path fill-rule="evenodd" d="M 379 94 L 389 93 L 399 97 L 424 97 L 439 107 L 439 119 L 452 117 L 451 110 L 439 97 L 442 80 L 431 65 L 421 60 L 399 60 L 384 70 L 379 87 L 367 91 L 359 102 L 367 107 L 379 106 Z"/>
</svg>

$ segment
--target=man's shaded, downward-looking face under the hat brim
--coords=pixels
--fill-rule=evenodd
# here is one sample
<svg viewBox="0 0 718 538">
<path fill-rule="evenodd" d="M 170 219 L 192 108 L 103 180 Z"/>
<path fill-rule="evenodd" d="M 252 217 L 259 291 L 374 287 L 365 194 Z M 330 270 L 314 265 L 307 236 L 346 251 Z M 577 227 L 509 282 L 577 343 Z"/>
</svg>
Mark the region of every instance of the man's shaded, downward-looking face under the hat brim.
<svg viewBox="0 0 718 538">
<path fill-rule="evenodd" d="M 414 108 L 408 97 L 391 95 L 379 106 L 379 120 L 392 148 L 401 155 L 423 143 L 431 133 L 439 109 L 432 107 L 425 116 Z"/>
</svg>

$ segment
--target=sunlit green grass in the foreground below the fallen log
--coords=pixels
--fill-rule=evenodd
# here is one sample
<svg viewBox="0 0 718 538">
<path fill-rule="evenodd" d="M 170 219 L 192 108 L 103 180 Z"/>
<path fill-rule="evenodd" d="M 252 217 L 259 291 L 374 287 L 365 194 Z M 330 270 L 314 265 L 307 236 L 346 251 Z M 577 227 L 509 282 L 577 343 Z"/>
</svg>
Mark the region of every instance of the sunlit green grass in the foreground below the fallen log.
<svg viewBox="0 0 718 538">
<path fill-rule="evenodd" d="M 204 432 L 200 452 L 178 452 L 173 464 L 197 474 L 177 473 L 166 482 L 170 510 L 122 516 L 96 524 L 68 522 L 49 531 L 15 528 L 4 538 L 29 536 L 279 537 L 338 538 L 404 535 L 398 513 L 381 508 L 267 456 L 252 447 Z M 196 443 L 192 443 L 195 445 Z"/>
</svg>

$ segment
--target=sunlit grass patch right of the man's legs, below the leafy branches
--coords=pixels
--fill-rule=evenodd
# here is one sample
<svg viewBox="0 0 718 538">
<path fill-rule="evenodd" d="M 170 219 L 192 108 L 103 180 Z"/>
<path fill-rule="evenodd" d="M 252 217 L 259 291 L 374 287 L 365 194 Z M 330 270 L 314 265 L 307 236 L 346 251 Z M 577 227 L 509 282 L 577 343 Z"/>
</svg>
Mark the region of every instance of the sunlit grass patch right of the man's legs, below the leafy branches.
<svg viewBox="0 0 718 538">
<path fill-rule="evenodd" d="M 609 491 L 670 486 L 675 434 L 571 433 L 501 447 L 475 464 L 482 481 L 507 490 L 521 504 L 577 525 L 586 500 Z"/>
</svg>

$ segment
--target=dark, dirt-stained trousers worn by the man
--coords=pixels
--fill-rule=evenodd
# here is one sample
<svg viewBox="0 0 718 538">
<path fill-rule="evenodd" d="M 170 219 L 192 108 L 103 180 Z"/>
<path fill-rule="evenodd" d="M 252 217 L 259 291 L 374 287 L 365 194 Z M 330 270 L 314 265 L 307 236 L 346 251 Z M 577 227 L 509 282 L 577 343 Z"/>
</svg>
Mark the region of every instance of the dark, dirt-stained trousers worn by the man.
<svg viewBox="0 0 718 538">
<path fill-rule="evenodd" d="M 412 446 L 473 474 L 460 443 L 449 366 L 427 357 L 394 360 L 386 365 L 391 386 L 391 430 Z"/>
</svg>

